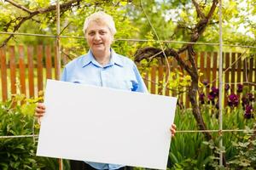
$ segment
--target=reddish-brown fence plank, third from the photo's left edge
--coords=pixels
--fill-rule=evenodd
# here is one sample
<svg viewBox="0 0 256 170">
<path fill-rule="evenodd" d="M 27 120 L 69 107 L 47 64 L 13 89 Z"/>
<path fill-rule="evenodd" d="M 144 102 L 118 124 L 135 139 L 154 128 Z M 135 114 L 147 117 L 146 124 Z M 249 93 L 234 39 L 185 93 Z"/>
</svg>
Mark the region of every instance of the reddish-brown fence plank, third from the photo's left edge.
<svg viewBox="0 0 256 170">
<path fill-rule="evenodd" d="M 24 58 L 24 48 L 19 46 L 19 69 L 20 69 L 20 92 L 26 95 L 26 65 Z"/>
</svg>

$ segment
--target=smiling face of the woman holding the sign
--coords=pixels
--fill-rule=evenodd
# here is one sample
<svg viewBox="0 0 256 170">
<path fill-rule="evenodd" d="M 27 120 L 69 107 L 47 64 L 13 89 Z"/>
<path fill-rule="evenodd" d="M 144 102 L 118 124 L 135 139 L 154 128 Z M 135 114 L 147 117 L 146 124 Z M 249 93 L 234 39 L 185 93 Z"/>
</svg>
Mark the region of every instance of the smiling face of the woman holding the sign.
<svg viewBox="0 0 256 170">
<path fill-rule="evenodd" d="M 96 21 L 89 23 L 85 37 L 93 53 L 109 51 L 110 45 L 113 42 L 113 35 L 108 26 Z"/>
</svg>

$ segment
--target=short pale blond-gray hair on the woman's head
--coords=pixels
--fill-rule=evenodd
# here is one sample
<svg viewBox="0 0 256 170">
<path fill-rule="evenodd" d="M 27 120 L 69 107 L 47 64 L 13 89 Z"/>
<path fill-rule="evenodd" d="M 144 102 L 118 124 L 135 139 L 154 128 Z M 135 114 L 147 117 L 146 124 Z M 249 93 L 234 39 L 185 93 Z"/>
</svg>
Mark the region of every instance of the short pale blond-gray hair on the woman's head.
<svg viewBox="0 0 256 170">
<path fill-rule="evenodd" d="M 84 35 L 86 35 L 86 30 L 91 21 L 102 22 L 106 24 L 113 36 L 116 33 L 113 17 L 109 14 L 104 13 L 103 11 L 99 11 L 99 12 L 90 14 L 90 16 L 88 16 L 84 20 L 84 29 L 83 29 Z"/>
</svg>

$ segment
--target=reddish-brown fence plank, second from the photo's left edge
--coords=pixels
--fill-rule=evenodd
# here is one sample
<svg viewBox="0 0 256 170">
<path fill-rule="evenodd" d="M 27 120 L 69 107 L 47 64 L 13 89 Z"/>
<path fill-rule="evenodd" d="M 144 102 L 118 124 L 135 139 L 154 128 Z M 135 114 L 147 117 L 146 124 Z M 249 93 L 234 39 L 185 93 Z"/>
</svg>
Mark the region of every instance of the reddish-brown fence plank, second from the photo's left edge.
<svg viewBox="0 0 256 170">
<path fill-rule="evenodd" d="M 9 46 L 9 68 L 10 68 L 11 94 L 16 94 L 15 46 Z"/>
</svg>

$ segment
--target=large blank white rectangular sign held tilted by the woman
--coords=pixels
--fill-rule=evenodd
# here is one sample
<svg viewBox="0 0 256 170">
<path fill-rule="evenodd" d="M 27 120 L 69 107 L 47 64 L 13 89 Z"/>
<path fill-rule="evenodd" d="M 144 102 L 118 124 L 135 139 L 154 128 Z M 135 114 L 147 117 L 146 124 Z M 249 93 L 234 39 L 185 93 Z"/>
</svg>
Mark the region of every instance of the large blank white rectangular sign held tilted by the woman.
<svg viewBox="0 0 256 170">
<path fill-rule="evenodd" d="M 48 80 L 37 156 L 166 169 L 176 103 Z"/>
</svg>

